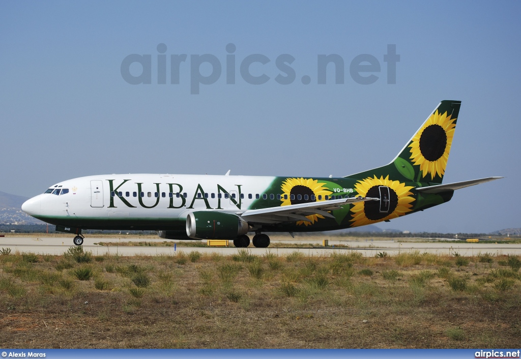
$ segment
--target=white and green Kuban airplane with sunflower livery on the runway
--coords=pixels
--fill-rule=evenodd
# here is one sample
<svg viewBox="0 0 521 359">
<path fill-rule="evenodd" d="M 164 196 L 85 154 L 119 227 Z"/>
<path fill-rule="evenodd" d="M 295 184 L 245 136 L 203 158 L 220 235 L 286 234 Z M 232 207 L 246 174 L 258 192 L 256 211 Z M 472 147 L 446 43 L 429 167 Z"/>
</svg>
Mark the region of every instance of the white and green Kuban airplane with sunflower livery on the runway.
<svg viewBox="0 0 521 359">
<path fill-rule="evenodd" d="M 153 230 L 176 240 L 227 239 L 267 247 L 266 233 L 315 232 L 390 221 L 502 177 L 442 184 L 461 101 L 442 101 L 388 164 L 332 178 L 132 174 L 59 182 L 22 211 L 56 231 Z"/>
</svg>

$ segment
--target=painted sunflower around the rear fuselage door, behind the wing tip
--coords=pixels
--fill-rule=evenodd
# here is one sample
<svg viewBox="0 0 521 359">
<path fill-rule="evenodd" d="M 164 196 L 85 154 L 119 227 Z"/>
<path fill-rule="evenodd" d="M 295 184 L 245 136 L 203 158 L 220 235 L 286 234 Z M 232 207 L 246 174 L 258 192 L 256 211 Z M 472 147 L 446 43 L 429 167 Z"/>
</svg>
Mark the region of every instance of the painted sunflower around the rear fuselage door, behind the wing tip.
<svg viewBox="0 0 521 359">
<path fill-rule="evenodd" d="M 355 189 L 359 196 L 362 197 L 380 197 L 379 187 L 389 187 L 390 203 L 388 212 L 380 212 L 379 201 L 367 201 L 357 202 L 351 207 L 352 218 L 350 221 L 353 222 L 351 227 L 370 225 L 382 220 L 393 219 L 403 216 L 407 212 L 412 211 L 414 197 L 411 190 L 412 186 L 406 186 L 405 183 L 400 181 L 393 181 L 389 179 L 389 176 L 383 178 L 368 177 L 364 180 L 356 182 Z"/>
</svg>

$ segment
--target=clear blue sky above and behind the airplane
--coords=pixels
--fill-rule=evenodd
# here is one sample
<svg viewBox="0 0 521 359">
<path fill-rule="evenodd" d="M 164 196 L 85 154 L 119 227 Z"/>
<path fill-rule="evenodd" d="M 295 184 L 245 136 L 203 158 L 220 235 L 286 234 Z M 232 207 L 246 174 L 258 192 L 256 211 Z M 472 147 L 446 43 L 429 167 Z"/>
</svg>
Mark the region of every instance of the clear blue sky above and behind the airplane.
<svg viewBox="0 0 521 359">
<path fill-rule="evenodd" d="M 33 196 L 65 179 L 129 172 L 345 176 L 389 163 L 439 101 L 461 100 L 444 182 L 506 178 L 380 227 L 521 227 L 520 10 L 519 2 L 2 2 L 0 190 Z M 167 84 L 157 83 L 161 43 Z M 229 43 L 235 84 L 226 84 Z M 388 44 L 400 55 L 396 84 L 387 83 Z M 123 79 L 130 54 L 151 55 L 151 84 Z M 169 81 L 171 54 L 187 54 L 179 84 Z M 222 73 L 194 95 L 190 58 L 202 54 Z M 270 78 L 264 84 L 241 78 L 252 54 L 270 60 L 250 67 Z M 281 54 L 295 58 L 287 85 L 275 81 Z M 342 57 L 343 84 L 330 67 L 317 84 L 320 54 Z M 361 54 L 380 65 L 372 84 L 350 76 Z"/>
</svg>

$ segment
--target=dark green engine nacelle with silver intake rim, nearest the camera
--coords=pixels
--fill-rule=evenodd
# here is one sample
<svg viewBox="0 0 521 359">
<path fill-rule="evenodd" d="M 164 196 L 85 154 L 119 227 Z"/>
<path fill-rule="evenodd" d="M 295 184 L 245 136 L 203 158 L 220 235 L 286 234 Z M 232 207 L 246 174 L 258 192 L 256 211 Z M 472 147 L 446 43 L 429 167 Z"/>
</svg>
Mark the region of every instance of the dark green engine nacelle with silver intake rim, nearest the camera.
<svg viewBox="0 0 521 359">
<path fill-rule="evenodd" d="M 194 239 L 235 239 L 248 232 L 241 217 L 215 211 L 196 211 L 187 216 L 187 234 Z"/>
</svg>

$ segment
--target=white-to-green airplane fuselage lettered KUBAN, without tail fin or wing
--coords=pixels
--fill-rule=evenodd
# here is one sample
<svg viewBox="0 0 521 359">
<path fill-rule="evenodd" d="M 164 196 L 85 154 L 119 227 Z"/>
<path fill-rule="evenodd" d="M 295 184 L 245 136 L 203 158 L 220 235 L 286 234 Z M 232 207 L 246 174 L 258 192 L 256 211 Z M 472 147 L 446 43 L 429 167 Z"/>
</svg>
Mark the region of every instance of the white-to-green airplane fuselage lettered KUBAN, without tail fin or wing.
<svg viewBox="0 0 521 359">
<path fill-rule="evenodd" d="M 169 230 L 185 232 L 187 216 L 194 211 L 218 211 L 241 215 L 248 209 L 328 201 L 346 196 L 380 195 L 374 188 L 386 185 L 390 191 L 387 213 L 373 210 L 379 203 L 356 205 L 332 211 L 334 218 L 309 216 L 309 221 L 259 224 L 252 230 L 326 231 L 373 224 L 413 213 L 450 200 L 414 190 L 417 182 L 393 181 L 364 184 L 356 178 L 303 178 L 215 175 L 100 175 L 80 177 L 52 185 L 46 193 L 23 204 L 29 215 L 50 224 L 81 229 Z M 365 190 L 364 190 L 365 185 Z M 369 193 L 369 192 L 375 193 Z M 308 217 L 308 218 L 309 218 Z"/>
</svg>

